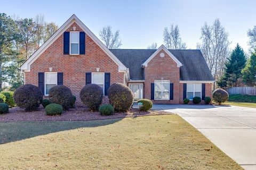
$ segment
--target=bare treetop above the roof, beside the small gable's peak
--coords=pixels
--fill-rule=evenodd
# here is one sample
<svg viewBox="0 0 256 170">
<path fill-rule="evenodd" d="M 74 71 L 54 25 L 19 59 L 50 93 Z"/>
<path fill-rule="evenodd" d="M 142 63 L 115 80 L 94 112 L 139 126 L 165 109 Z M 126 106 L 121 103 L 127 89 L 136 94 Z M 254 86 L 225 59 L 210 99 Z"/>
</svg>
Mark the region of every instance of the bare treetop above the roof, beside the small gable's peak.
<svg viewBox="0 0 256 170">
<path fill-rule="evenodd" d="M 169 49 L 186 49 L 186 43 L 183 43 L 180 37 L 180 29 L 178 25 L 171 24 L 170 30 L 164 28 L 164 44 Z"/>
</svg>

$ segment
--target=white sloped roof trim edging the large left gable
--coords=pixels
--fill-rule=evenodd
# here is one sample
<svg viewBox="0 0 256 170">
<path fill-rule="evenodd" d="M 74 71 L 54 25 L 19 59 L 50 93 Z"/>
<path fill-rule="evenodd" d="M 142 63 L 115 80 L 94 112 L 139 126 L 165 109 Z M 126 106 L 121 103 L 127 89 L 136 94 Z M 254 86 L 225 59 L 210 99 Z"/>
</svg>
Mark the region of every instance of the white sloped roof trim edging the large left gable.
<svg viewBox="0 0 256 170">
<path fill-rule="evenodd" d="M 102 50 L 105 52 L 117 65 L 118 71 L 127 71 L 124 64 L 118 60 L 118 58 L 113 55 L 110 50 L 86 27 L 86 25 L 73 14 L 41 47 L 39 47 L 36 52 L 28 58 L 28 60 L 23 63 L 20 67 L 21 70 L 30 71 L 30 65 L 50 46 L 52 43 L 59 38 L 62 33 L 64 33 L 74 22 L 84 30 L 84 32 L 89 36 Z"/>
</svg>

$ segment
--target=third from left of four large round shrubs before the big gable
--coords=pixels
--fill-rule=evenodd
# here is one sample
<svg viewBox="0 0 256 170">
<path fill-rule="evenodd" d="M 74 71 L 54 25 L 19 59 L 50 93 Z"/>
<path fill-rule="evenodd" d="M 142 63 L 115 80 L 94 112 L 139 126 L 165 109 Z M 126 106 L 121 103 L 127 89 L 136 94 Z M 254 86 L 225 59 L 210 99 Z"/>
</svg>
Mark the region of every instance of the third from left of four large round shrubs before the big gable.
<svg viewBox="0 0 256 170">
<path fill-rule="evenodd" d="M 103 90 L 97 84 L 87 84 L 80 91 L 82 102 L 93 112 L 98 111 L 103 99 Z"/>
</svg>

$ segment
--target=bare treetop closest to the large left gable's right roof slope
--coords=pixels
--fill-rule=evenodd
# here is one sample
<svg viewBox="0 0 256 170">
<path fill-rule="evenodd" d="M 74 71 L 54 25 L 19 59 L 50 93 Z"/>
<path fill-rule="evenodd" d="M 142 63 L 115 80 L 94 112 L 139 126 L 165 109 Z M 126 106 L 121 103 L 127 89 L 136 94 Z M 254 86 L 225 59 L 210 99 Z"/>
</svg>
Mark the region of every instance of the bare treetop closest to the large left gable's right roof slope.
<svg viewBox="0 0 256 170">
<path fill-rule="evenodd" d="M 122 46 L 121 38 L 119 37 L 119 30 L 116 30 L 116 32 L 113 34 L 111 29 L 112 28 L 110 26 L 103 27 L 99 33 L 100 38 L 107 48 L 119 48 Z"/>
</svg>

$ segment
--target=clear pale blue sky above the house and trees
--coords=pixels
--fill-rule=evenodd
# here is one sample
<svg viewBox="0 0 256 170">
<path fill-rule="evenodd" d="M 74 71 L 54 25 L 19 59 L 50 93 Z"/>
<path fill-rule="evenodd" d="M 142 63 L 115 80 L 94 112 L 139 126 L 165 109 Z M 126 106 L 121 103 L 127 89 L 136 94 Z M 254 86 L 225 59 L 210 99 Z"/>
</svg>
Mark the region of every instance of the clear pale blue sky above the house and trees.
<svg viewBox="0 0 256 170">
<path fill-rule="evenodd" d="M 95 34 L 110 25 L 119 29 L 122 48 L 147 48 L 156 42 L 163 44 L 164 27 L 178 24 L 188 48 L 196 48 L 201 27 L 219 18 L 229 33 L 231 48 L 239 43 L 245 50 L 247 30 L 256 25 L 256 1 L 2 1 L 0 12 L 16 14 L 20 18 L 34 18 L 44 14 L 47 22 L 62 25 L 72 14 Z"/>
</svg>

